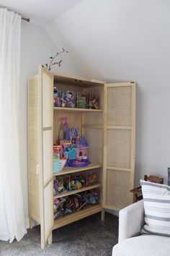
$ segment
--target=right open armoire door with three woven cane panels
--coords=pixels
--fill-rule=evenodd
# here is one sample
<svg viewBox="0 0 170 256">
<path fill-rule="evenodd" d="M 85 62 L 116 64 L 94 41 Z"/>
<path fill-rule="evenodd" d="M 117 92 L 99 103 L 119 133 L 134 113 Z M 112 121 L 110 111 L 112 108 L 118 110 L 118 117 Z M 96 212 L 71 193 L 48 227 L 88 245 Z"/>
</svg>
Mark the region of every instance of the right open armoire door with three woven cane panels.
<svg viewBox="0 0 170 256">
<path fill-rule="evenodd" d="M 104 85 L 103 208 L 133 202 L 135 169 L 135 83 Z"/>
</svg>

